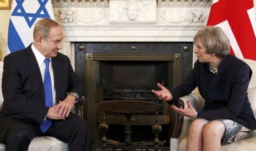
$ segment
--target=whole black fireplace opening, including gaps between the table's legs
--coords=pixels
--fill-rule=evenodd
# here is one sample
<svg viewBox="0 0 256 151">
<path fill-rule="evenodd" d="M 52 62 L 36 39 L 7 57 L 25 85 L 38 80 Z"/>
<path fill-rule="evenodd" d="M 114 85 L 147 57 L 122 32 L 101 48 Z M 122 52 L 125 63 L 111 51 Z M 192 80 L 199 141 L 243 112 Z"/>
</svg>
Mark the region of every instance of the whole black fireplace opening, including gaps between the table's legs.
<svg viewBox="0 0 256 151">
<path fill-rule="evenodd" d="M 167 88 L 173 86 L 173 61 L 99 61 L 100 89 L 103 89 L 102 101 L 111 100 L 143 100 L 162 104 L 159 115 L 168 111 L 165 103 L 151 93 L 151 90 L 159 90 L 156 83 L 161 83 Z M 101 113 L 99 113 L 101 114 Z M 150 122 L 140 124 L 132 115 L 132 140 L 136 143 L 152 142 L 155 138 L 151 130 L 151 124 L 155 120 L 156 113 L 148 113 Z M 142 115 L 144 118 L 146 115 Z M 145 119 L 146 120 L 146 119 Z M 117 121 L 108 119 L 109 130 L 106 133 L 108 140 L 115 142 L 124 141 L 125 125 L 115 124 Z M 168 124 L 162 125 L 164 129 L 159 134 L 159 139 L 165 140 L 169 146 L 167 136 Z M 169 125 L 170 126 L 170 125 Z M 146 136 L 146 137 L 145 137 Z M 161 141 L 162 141 L 161 140 Z"/>
</svg>

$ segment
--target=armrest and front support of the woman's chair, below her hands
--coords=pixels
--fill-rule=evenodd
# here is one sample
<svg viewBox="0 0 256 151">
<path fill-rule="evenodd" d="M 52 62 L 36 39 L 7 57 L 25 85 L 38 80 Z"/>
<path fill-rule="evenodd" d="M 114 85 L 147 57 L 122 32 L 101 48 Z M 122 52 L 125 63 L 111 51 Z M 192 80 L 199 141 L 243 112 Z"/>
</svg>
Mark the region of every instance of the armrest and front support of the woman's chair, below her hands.
<svg viewBox="0 0 256 151">
<path fill-rule="evenodd" d="M 179 98 L 178 102 L 175 104 L 177 107 L 187 108 L 188 104 L 187 101 L 192 104 L 196 111 L 199 111 L 204 106 L 204 99 L 200 96 L 199 93 L 195 92 L 193 94 L 183 96 Z M 183 117 L 183 115 L 179 113 L 176 114 L 176 121 L 175 121 L 175 129 L 171 138 L 178 138 L 181 141 L 184 137 L 187 137 L 189 125 L 193 121 L 192 118 Z"/>
</svg>

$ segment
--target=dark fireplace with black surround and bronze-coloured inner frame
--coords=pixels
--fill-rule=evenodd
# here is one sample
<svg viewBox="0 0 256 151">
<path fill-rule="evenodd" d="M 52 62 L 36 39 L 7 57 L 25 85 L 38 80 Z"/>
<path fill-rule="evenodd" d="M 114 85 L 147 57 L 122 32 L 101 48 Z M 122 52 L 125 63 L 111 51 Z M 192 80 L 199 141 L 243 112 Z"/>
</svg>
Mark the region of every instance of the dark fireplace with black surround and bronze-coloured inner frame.
<svg viewBox="0 0 256 151">
<path fill-rule="evenodd" d="M 167 146 L 172 135 L 175 116 L 169 105 L 151 94 L 156 83 L 174 88 L 182 83 L 192 69 L 192 42 L 77 42 L 75 71 L 86 85 L 84 117 L 90 123 L 92 140 L 98 142 L 102 112 L 96 104 L 110 100 L 143 100 L 161 104 L 159 123 L 163 130 L 160 140 Z M 122 141 L 124 115 L 106 114 L 110 124 L 107 138 Z M 149 136 L 155 114 L 133 115 L 133 141 L 152 141 Z M 121 130 L 121 132 L 118 132 Z M 121 135 L 117 135 L 121 133 Z M 123 135 L 122 135 L 123 134 Z"/>
</svg>

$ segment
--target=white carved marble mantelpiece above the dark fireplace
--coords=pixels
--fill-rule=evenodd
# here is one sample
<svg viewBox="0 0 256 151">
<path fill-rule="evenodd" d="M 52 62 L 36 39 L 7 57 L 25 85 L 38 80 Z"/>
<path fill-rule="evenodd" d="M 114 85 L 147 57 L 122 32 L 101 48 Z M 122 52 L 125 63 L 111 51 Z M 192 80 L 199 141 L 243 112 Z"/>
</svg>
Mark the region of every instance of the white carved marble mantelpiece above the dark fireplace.
<svg viewBox="0 0 256 151">
<path fill-rule="evenodd" d="M 61 51 L 69 56 L 73 66 L 74 42 L 192 42 L 195 32 L 206 25 L 211 3 L 211 0 L 52 0 L 55 20 L 64 30 Z"/>
</svg>

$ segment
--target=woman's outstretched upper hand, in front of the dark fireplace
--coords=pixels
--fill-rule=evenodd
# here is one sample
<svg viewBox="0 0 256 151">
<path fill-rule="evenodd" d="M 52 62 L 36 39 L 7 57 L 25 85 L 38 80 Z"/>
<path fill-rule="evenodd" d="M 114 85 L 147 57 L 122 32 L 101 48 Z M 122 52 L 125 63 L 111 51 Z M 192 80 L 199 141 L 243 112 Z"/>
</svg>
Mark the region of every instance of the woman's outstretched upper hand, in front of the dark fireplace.
<svg viewBox="0 0 256 151">
<path fill-rule="evenodd" d="M 165 86 L 161 85 L 160 83 L 157 83 L 157 86 L 161 89 L 160 91 L 151 90 L 156 97 L 164 101 L 172 100 L 172 94 L 168 89 L 165 88 Z"/>
</svg>

